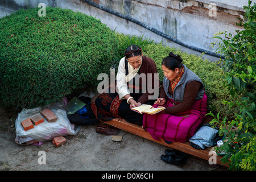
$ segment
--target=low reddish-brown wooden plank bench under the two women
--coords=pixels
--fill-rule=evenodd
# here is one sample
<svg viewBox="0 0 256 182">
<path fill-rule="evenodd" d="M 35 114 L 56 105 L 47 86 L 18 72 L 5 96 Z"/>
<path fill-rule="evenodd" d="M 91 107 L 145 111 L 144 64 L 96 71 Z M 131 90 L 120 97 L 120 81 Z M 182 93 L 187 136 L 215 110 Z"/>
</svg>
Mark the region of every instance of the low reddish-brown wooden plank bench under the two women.
<svg viewBox="0 0 256 182">
<path fill-rule="evenodd" d="M 207 116 L 207 118 L 205 118 L 205 120 L 204 120 L 204 123 L 209 123 L 210 121 L 212 121 L 212 117 Z M 210 152 L 209 148 L 206 148 L 204 150 L 198 150 L 198 149 L 193 148 L 189 144 L 189 142 L 184 142 L 184 143 L 172 142 L 171 144 L 167 144 L 163 139 L 155 140 L 154 138 L 152 138 L 150 133 L 148 133 L 147 131 L 142 129 L 141 126 L 126 122 L 125 119 L 115 118 L 112 121 L 101 121 L 101 122 L 104 122 L 108 125 L 117 127 L 118 129 L 125 130 L 129 133 L 138 135 L 140 137 L 146 138 L 148 140 L 152 140 L 156 143 L 163 144 L 164 146 L 174 148 L 176 150 L 185 152 L 185 153 L 193 155 L 193 156 L 197 156 L 201 159 L 209 160 L 209 158 L 212 156 L 209 154 L 209 152 Z M 222 166 L 225 166 L 225 167 L 229 167 L 227 163 L 221 162 L 221 158 L 222 158 L 222 156 L 216 156 L 216 163 L 220 164 Z"/>
</svg>

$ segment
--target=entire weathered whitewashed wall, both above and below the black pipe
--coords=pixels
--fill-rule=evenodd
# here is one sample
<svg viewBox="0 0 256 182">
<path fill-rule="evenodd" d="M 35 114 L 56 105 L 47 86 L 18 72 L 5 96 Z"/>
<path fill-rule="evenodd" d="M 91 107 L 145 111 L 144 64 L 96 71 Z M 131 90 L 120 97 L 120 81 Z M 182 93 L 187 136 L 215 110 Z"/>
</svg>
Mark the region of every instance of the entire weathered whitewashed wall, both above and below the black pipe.
<svg viewBox="0 0 256 182">
<path fill-rule="evenodd" d="M 210 46 L 210 43 L 216 41 L 212 37 L 217 32 L 228 31 L 235 34 L 236 29 L 239 28 L 236 26 L 237 18 L 243 18 L 242 7 L 247 5 L 247 0 L 235 2 L 232 0 L 92 0 L 92 2 L 137 19 L 185 44 L 209 51 L 215 49 Z M 201 54 L 170 42 L 138 24 L 99 10 L 82 0 L 0 0 L 0 6 L 15 10 L 20 7 L 37 7 L 39 3 L 96 16 L 112 30 L 123 32 L 123 34 L 143 34 L 154 39 L 155 42 L 162 41 L 168 46 L 181 48 L 188 53 Z M 217 60 L 216 57 L 208 55 L 204 55 L 204 58 Z"/>
</svg>

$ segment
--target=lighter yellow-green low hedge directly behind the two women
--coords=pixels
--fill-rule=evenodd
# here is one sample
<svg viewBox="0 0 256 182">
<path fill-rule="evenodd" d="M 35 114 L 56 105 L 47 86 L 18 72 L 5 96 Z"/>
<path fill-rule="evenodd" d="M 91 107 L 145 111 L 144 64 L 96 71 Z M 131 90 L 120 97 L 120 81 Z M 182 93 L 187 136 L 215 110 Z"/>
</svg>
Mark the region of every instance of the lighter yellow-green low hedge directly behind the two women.
<svg viewBox="0 0 256 182">
<path fill-rule="evenodd" d="M 220 112 L 220 118 L 234 118 L 234 112 L 238 107 L 230 107 L 223 103 L 226 101 L 237 101 L 238 98 L 230 96 L 229 89 L 224 86 L 224 72 L 212 61 L 203 60 L 200 56 L 181 52 L 180 49 L 163 45 L 162 43 L 154 43 L 150 39 L 143 39 L 143 36 L 117 34 L 119 44 L 119 58 L 123 57 L 123 50 L 130 44 L 137 44 L 142 47 L 143 54 L 151 57 L 155 61 L 159 73 L 159 79 L 163 81 L 162 60 L 168 56 L 169 52 L 174 52 L 182 57 L 183 63 L 198 75 L 204 83 L 205 93 L 208 96 L 208 110 L 217 114 Z M 127 43 L 128 42 L 128 43 Z M 125 46 L 123 46 L 125 44 Z M 129 44 L 129 45 L 128 45 Z M 121 48 L 120 48 L 121 47 Z"/>
</svg>

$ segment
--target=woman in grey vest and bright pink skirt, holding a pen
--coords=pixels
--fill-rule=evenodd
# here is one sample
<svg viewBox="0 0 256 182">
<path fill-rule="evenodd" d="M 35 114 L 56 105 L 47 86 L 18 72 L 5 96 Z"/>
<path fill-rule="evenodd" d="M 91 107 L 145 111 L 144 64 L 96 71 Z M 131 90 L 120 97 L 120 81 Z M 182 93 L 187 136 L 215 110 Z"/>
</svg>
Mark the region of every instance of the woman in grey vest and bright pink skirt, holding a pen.
<svg viewBox="0 0 256 182">
<path fill-rule="evenodd" d="M 187 141 L 207 114 L 204 85 L 182 61 L 172 52 L 163 59 L 164 79 L 155 107 L 166 109 L 158 114 L 143 115 L 143 128 L 154 139 L 163 138 L 167 143 Z"/>
</svg>

